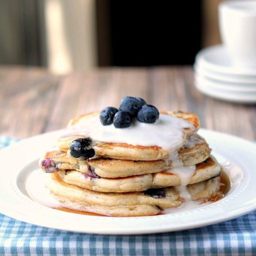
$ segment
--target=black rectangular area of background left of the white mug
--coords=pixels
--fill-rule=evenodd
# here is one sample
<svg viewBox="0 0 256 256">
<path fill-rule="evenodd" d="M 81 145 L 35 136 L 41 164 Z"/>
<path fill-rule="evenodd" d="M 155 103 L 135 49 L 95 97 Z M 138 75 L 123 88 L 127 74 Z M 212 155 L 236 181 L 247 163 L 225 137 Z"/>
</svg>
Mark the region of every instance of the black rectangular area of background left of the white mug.
<svg viewBox="0 0 256 256">
<path fill-rule="evenodd" d="M 198 0 L 97 0 L 99 65 L 193 64 L 201 49 L 201 12 Z"/>
</svg>

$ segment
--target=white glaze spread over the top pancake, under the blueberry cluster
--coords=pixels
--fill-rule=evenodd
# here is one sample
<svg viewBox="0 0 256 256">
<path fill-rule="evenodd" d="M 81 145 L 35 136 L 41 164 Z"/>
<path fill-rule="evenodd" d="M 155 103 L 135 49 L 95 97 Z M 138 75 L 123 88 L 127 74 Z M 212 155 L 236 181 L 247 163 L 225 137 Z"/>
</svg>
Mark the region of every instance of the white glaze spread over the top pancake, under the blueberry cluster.
<svg viewBox="0 0 256 256">
<path fill-rule="evenodd" d="M 117 129 L 113 124 L 103 126 L 99 116 L 95 116 L 71 126 L 68 135 L 87 135 L 100 142 L 159 146 L 172 153 L 183 145 L 186 139 L 185 128 L 195 131 L 194 125 L 171 115 L 160 114 L 154 124 L 141 123 L 134 119 L 130 127 L 123 129 Z"/>
</svg>

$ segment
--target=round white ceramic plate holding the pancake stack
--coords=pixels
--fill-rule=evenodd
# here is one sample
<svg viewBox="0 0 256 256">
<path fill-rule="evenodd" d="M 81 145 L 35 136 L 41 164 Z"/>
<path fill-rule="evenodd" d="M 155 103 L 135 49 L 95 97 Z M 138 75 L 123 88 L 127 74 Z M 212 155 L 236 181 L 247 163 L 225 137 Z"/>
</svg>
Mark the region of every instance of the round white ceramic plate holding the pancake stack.
<svg viewBox="0 0 256 256">
<path fill-rule="evenodd" d="M 256 146 L 228 134 L 200 130 L 230 177 L 225 198 L 198 209 L 152 217 L 98 217 L 51 209 L 32 201 L 27 177 L 38 171 L 37 161 L 62 131 L 23 140 L 0 151 L 0 212 L 35 225 L 95 234 L 150 234 L 211 225 L 256 209 Z"/>
</svg>

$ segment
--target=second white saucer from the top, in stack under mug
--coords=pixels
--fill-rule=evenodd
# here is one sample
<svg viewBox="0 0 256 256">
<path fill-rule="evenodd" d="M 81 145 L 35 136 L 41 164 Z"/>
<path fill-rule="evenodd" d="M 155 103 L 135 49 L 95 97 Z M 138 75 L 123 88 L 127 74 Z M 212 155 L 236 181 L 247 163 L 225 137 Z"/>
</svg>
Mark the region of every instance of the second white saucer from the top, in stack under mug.
<svg viewBox="0 0 256 256">
<path fill-rule="evenodd" d="M 205 76 L 207 78 L 212 78 L 221 82 L 236 84 L 248 84 L 256 87 L 256 76 L 241 76 L 241 75 L 231 75 L 222 74 L 217 71 L 207 69 L 205 66 L 195 63 L 194 70 L 197 74 Z"/>
</svg>

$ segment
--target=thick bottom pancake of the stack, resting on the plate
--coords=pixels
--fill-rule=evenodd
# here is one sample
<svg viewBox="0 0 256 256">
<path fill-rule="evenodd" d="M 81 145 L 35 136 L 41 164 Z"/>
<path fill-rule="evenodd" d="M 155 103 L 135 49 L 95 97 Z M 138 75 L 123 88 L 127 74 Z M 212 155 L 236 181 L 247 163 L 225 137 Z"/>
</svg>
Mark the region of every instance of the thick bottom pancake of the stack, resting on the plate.
<svg viewBox="0 0 256 256">
<path fill-rule="evenodd" d="M 155 215 L 162 209 L 180 206 L 184 199 L 174 187 L 131 193 L 101 193 L 67 185 L 58 173 L 50 174 L 46 185 L 63 207 L 111 216 Z M 209 199 L 218 194 L 219 178 L 188 185 L 193 201 Z"/>
</svg>

